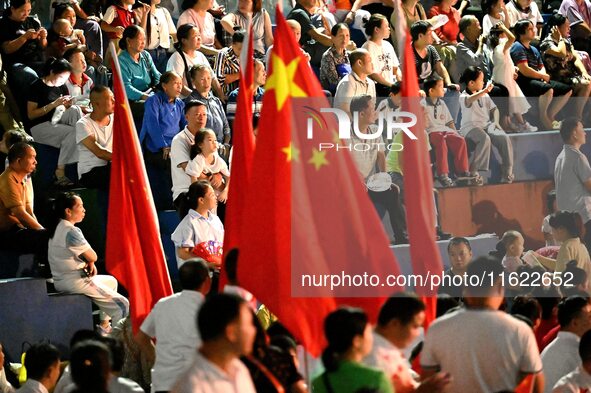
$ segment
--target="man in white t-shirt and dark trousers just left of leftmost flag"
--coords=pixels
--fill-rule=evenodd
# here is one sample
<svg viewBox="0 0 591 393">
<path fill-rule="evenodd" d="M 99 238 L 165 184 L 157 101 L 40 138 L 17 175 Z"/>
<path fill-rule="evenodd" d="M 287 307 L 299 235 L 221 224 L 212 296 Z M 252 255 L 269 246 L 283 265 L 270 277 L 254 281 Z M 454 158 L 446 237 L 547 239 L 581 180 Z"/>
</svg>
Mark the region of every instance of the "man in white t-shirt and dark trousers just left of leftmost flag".
<svg viewBox="0 0 591 393">
<path fill-rule="evenodd" d="M 113 112 L 115 97 L 106 86 L 90 91 L 92 112 L 76 123 L 78 177 L 87 188 L 107 190 L 113 151 Z"/>
</svg>

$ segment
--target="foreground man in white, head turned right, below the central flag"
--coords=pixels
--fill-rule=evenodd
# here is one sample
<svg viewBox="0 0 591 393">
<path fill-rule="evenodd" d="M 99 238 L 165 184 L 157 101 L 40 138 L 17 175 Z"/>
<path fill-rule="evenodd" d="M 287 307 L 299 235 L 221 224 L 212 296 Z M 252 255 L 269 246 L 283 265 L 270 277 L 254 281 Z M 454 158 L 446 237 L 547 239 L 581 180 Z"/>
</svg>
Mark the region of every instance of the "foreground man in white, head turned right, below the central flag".
<svg viewBox="0 0 591 393">
<path fill-rule="evenodd" d="M 197 326 L 203 345 L 172 392 L 255 393 L 248 369 L 239 360 L 252 352 L 256 334 L 248 304 L 236 295 L 214 295 L 201 306 Z"/>
</svg>

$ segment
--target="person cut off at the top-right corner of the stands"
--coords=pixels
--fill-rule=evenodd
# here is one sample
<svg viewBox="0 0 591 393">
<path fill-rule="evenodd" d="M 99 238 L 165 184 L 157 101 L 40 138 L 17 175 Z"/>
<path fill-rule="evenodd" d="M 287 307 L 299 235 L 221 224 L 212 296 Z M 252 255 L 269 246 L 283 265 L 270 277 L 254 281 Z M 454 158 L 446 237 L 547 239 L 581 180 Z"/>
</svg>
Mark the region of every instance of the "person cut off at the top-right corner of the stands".
<svg viewBox="0 0 591 393">
<path fill-rule="evenodd" d="M 558 13 L 567 17 L 570 22 L 570 37 L 575 48 L 591 54 L 591 2 L 565 0 L 560 4 Z"/>
</svg>

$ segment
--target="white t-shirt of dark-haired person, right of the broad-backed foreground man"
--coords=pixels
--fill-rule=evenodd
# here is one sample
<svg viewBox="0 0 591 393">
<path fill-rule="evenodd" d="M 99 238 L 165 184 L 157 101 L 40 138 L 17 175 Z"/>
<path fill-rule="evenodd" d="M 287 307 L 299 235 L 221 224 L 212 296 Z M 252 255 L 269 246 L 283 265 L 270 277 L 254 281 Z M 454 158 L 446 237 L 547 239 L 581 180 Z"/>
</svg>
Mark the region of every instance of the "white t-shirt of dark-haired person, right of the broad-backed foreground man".
<svg viewBox="0 0 591 393">
<path fill-rule="evenodd" d="M 544 392 L 552 392 L 558 380 L 581 365 L 580 338 L 571 332 L 558 332 L 556 339 L 542 351 Z"/>
</svg>

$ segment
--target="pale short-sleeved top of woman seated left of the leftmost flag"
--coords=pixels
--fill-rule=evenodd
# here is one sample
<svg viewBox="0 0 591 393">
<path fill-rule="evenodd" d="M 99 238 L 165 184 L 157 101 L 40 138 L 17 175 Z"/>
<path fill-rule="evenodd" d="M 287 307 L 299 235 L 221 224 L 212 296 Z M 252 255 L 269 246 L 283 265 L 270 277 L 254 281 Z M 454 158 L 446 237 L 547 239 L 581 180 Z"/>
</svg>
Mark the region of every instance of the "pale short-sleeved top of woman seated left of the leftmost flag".
<svg viewBox="0 0 591 393">
<path fill-rule="evenodd" d="M 80 269 L 86 266 L 86 262 L 79 256 L 91 248 L 80 228 L 70 221 L 60 220 L 48 244 L 47 256 L 53 279 L 80 279 Z"/>
</svg>

